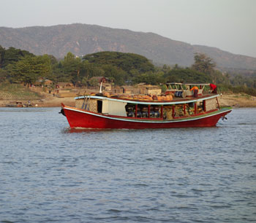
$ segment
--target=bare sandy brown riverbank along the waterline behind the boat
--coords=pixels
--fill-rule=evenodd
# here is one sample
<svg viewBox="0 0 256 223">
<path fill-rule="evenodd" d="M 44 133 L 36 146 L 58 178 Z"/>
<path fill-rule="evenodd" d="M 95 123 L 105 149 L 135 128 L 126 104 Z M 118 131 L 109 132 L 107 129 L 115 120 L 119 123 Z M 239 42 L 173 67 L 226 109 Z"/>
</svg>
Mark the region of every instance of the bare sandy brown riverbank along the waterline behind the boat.
<svg viewBox="0 0 256 223">
<path fill-rule="evenodd" d="M 12 101 L 14 101 L 12 99 Z M 19 100 L 23 104 L 28 103 L 28 101 Z M 4 107 L 7 104 L 10 104 L 9 100 L 0 100 L 0 106 Z M 38 107 L 60 107 L 61 103 L 64 103 L 68 106 L 75 106 L 74 97 L 65 97 L 58 98 L 53 97 L 51 94 L 45 94 L 44 98 L 31 100 L 32 106 Z M 236 108 L 256 108 L 256 97 L 246 95 L 246 94 L 230 94 L 230 95 L 221 95 L 219 96 L 219 105 L 220 106 L 233 106 Z"/>
</svg>

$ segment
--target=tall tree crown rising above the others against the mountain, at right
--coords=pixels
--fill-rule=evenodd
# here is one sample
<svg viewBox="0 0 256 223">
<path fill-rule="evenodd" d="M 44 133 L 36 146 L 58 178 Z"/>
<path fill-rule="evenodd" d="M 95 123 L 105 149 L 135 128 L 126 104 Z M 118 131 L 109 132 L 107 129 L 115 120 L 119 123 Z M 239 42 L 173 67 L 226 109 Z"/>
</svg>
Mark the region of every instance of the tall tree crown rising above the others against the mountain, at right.
<svg viewBox="0 0 256 223">
<path fill-rule="evenodd" d="M 195 71 L 200 71 L 204 74 L 211 74 L 214 71 L 216 63 L 211 58 L 203 53 L 195 53 L 194 56 L 195 63 L 192 64 L 192 69 Z"/>
</svg>

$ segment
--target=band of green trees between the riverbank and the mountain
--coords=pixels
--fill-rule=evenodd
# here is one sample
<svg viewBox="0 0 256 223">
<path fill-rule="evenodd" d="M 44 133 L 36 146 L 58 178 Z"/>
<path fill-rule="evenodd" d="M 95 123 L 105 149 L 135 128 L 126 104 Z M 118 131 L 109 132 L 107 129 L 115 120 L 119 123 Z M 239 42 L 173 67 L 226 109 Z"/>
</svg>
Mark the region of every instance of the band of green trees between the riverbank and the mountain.
<svg viewBox="0 0 256 223">
<path fill-rule="evenodd" d="M 108 77 L 114 85 L 145 82 L 213 82 L 222 90 L 241 90 L 256 95 L 256 74 L 252 77 L 231 76 L 216 69 L 216 63 L 203 53 L 196 53 L 190 67 L 154 66 L 142 55 L 124 52 L 96 52 L 77 57 L 71 52 L 61 60 L 53 55 L 34 55 L 26 50 L 0 46 L 0 82 L 33 85 L 37 79 L 72 82 L 74 85 L 97 85 L 91 77 Z"/>
</svg>

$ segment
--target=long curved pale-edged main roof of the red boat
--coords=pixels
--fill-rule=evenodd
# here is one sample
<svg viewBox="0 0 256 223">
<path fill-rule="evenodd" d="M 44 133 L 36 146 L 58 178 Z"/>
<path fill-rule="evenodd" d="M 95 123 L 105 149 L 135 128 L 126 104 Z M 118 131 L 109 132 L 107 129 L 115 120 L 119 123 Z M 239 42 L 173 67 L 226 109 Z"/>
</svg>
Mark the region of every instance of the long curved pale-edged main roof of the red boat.
<svg viewBox="0 0 256 223">
<path fill-rule="evenodd" d="M 195 101 L 202 101 L 211 98 L 217 98 L 219 95 L 203 95 L 199 96 L 198 98 L 173 98 L 173 101 L 139 101 L 139 100 L 129 100 L 124 98 L 108 98 L 104 96 L 97 96 L 97 95 L 86 95 L 86 96 L 79 96 L 76 97 L 75 100 L 84 99 L 85 97 L 89 97 L 92 99 L 99 99 L 99 100 L 109 100 L 109 101 L 118 101 L 124 103 L 134 103 L 134 104 L 143 104 L 143 105 L 172 105 L 172 104 L 179 104 L 179 103 L 192 103 Z"/>
</svg>

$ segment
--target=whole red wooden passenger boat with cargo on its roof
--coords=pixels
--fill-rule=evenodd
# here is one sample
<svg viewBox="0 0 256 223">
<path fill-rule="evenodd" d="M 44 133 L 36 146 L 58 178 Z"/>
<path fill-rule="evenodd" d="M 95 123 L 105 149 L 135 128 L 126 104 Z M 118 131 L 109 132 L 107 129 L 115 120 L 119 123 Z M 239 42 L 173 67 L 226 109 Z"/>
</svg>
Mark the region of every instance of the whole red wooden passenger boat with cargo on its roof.
<svg viewBox="0 0 256 223">
<path fill-rule="evenodd" d="M 165 95 L 88 94 L 76 97 L 75 107 L 61 103 L 60 113 L 70 128 L 214 127 L 232 107 L 220 107 L 219 95 L 205 91 L 206 85 L 169 83 Z"/>
</svg>

